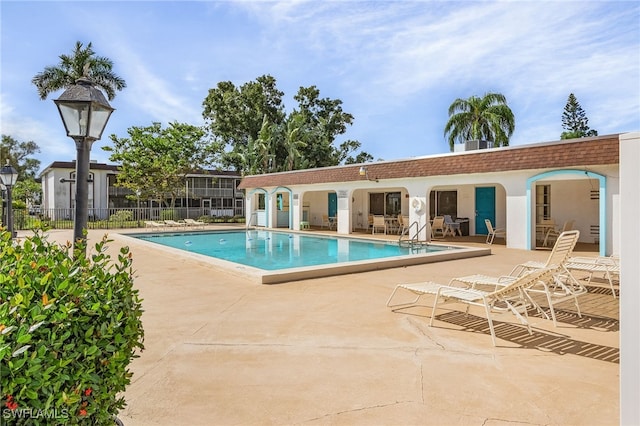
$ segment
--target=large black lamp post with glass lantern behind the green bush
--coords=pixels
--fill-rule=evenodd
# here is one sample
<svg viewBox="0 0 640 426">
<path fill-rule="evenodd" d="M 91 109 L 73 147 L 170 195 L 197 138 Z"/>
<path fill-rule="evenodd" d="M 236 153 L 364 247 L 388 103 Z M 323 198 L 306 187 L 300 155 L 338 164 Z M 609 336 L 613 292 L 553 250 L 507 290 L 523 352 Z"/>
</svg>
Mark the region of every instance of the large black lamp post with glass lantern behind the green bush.
<svg viewBox="0 0 640 426">
<path fill-rule="evenodd" d="M 113 108 L 93 82 L 85 77 L 55 99 L 67 136 L 76 143 L 76 207 L 73 226 L 74 247 L 85 246 L 84 230 L 89 216 L 89 161 L 91 145 L 102 137 Z M 85 247 L 86 249 L 86 247 Z"/>
</svg>

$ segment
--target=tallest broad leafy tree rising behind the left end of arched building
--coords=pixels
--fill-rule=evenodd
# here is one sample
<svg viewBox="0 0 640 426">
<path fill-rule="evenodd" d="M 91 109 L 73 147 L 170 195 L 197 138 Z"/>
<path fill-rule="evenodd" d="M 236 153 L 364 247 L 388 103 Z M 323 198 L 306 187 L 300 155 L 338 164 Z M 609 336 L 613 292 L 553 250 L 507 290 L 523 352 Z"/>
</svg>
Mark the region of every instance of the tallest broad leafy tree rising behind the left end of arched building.
<svg viewBox="0 0 640 426">
<path fill-rule="evenodd" d="M 294 96 L 298 108 L 286 114 L 283 95 L 268 75 L 239 88 L 226 81 L 209 90 L 203 117 L 215 140 L 229 148 L 223 166 L 256 174 L 355 161 L 350 154 L 359 142 L 333 145 L 353 122 L 341 100 L 320 98 L 315 86 L 300 87 Z M 356 158 L 369 157 L 364 152 Z"/>
</svg>

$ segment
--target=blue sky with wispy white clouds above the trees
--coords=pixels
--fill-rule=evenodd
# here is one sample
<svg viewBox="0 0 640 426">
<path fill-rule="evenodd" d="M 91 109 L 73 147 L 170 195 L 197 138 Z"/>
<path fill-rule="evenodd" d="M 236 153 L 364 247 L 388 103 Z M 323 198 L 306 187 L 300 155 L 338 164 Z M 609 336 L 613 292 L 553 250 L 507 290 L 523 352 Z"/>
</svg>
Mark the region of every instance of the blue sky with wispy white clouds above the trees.
<svg viewBox="0 0 640 426">
<path fill-rule="evenodd" d="M 0 1 L 0 128 L 75 159 L 53 103 L 31 78 L 76 41 L 113 60 L 127 88 L 110 134 L 172 121 L 200 125 L 220 81 L 270 74 L 288 111 L 300 86 L 341 99 L 376 159 L 449 152 L 456 98 L 498 92 L 516 118 L 511 145 L 558 140 L 574 93 L 600 135 L 640 130 L 638 1 Z"/>
</svg>

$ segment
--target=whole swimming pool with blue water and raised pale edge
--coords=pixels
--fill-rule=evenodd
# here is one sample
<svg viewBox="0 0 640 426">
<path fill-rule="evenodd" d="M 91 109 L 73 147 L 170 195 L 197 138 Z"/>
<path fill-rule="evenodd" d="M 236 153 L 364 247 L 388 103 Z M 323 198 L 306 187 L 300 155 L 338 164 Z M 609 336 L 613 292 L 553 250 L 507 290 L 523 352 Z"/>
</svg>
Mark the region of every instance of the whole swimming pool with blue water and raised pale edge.
<svg viewBox="0 0 640 426">
<path fill-rule="evenodd" d="M 130 236 L 258 277 L 263 284 L 490 254 L 488 249 L 433 244 L 410 249 L 397 241 L 270 230 Z"/>
</svg>

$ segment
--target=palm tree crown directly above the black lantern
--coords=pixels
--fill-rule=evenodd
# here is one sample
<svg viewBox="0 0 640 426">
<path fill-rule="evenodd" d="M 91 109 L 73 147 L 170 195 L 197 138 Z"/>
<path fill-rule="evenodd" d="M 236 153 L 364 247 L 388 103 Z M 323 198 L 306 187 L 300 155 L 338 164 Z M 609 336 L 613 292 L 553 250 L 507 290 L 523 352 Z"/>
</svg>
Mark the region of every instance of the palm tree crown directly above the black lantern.
<svg viewBox="0 0 640 426">
<path fill-rule="evenodd" d="M 103 56 L 95 56 L 91 43 L 87 47 L 79 41 L 73 53 L 60 55 L 58 66 L 45 67 L 31 82 L 38 88 L 40 99 L 45 100 L 50 93 L 66 89 L 76 83 L 80 77 L 89 78 L 97 87 L 104 90 L 109 100 L 113 100 L 117 90 L 127 87 L 125 81 L 111 70 L 113 62 Z"/>
</svg>

